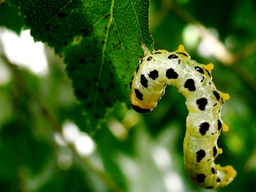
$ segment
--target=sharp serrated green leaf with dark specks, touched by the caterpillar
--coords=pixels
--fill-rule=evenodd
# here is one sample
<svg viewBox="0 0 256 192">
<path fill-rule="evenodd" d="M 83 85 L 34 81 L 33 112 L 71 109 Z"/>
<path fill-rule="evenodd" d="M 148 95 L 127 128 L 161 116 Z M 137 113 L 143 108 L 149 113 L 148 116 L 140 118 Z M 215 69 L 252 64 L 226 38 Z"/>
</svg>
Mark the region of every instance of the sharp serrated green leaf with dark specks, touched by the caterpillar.
<svg viewBox="0 0 256 192">
<path fill-rule="evenodd" d="M 46 42 L 67 64 L 75 94 L 92 128 L 116 101 L 129 103 L 130 81 L 142 40 L 153 50 L 148 0 L 8 0 L 25 17 L 35 41 Z"/>
</svg>

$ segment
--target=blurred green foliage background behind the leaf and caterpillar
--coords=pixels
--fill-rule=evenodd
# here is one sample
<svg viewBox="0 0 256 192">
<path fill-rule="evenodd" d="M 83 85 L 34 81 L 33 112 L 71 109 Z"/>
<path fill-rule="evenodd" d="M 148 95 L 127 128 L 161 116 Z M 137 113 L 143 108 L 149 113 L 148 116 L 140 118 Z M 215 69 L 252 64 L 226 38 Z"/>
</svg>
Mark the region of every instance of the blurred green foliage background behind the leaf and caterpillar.
<svg viewBox="0 0 256 192">
<path fill-rule="evenodd" d="M 2 3 L 1 9 L 9 8 Z M 230 95 L 222 108 L 229 131 L 218 140 L 223 154 L 216 162 L 233 165 L 237 177 L 218 191 L 256 191 L 255 12 L 253 0 L 150 2 L 155 49 L 174 51 L 183 44 L 191 58 L 213 62 L 213 82 Z M 10 20 L 17 10 L 4 15 L 1 25 L 18 33 L 22 20 Z M 224 59 L 214 49 L 202 57 L 200 47 L 209 44 L 225 47 Z M 93 137 L 93 153 L 81 155 L 74 143 L 57 142 L 67 121 L 80 130 L 86 122 L 65 65 L 48 48 L 46 55 L 49 73 L 43 77 L 1 55 L 0 65 L 11 74 L 0 86 L 1 191 L 206 191 L 191 183 L 183 166 L 188 111 L 175 87 L 167 87 L 147 115 L 117 103 Z"/>
</svg>

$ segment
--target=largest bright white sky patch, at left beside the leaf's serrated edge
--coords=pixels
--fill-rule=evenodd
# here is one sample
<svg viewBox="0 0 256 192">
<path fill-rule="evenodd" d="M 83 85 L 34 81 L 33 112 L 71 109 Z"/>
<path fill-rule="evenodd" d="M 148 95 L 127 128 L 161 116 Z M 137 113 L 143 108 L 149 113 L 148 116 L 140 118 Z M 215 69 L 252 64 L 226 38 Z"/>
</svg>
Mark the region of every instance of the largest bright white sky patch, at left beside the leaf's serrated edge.
<svg viewBox="0 0 256 192">
<path fill-rule="evenodd" d="M 11 30 L 0 28 L 0 38 L 4 53 L 10 62 L 27 67 L 38 76 L 47 74 L 44 45 L 41 42 L 34 42 L 30 30 L 22 30 L 18 36 Z"/>
</svg>

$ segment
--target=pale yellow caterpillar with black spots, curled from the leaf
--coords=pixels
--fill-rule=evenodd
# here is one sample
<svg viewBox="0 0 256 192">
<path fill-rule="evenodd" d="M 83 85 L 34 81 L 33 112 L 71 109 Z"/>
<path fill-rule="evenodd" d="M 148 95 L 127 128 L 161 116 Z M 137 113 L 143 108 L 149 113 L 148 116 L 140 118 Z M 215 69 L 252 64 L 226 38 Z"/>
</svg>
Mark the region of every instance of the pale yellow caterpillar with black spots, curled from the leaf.
<svg viewBox="0 0 256 192">
<path fill-rule="evenodd" d="M 183 142 L 185 169 L 193 183 L 206 189 L 227 186 L 236 177 L 230 165 L 215 165 L 214 159 L 222 153 L 217 139 L 228 126 L 221 120 L 223 102 L 227 93 L 218 91 L 212 82 L 213 64 L 203 65 L 190 59 L 180 45 L 175 52 L 150 52 L 140 41 L 144 57 L 130 83 L 130 100 L 138 113 L 149 113 L 164 95 L 166 85 L 177 86 L 186 97 L 187 130 Z"/>
</svg>

